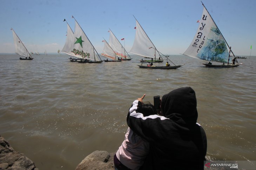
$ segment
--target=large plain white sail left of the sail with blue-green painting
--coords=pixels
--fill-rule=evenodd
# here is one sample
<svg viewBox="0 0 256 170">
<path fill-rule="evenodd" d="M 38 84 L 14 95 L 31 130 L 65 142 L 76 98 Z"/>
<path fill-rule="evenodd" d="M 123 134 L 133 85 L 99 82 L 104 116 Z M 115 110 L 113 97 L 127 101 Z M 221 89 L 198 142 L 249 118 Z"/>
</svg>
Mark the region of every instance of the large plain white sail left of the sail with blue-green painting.
<svg viewBox="0 0 256 170">
<path fill-rule="evenodd" d="M 151 42 L 146 32 L 143 30 L 143 28 L 141 27 L 141 25 L 137 20 L 136 20 L 135 29 L 136 29 L 136 33 L 135 33 L 135 39 L 133 42 L 133 47 L 129 51 L 129 53 L 143 56 L 146 58 L 159 59 L 159 57 L 161 57 L 160 54 L 158 53 L 157 50 L 155 50 L 156 47 Z M 153 47 L 153 48 L 150 48 L 150 47 Z"/>
</svg>

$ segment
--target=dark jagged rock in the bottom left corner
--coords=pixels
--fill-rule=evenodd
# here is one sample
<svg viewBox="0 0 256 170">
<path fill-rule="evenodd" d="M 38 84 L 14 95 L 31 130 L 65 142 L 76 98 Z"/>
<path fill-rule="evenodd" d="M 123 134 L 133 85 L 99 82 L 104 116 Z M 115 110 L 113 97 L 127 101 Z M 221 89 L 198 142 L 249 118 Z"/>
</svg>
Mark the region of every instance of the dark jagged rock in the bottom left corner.
<svg viewBox="0 0 256 170">
<path fill-rule="evenodd" d="M 0 170 L 39 170 L 24 154 L 15 151 L 7 140 L 0 136 Z"/>
</svg>

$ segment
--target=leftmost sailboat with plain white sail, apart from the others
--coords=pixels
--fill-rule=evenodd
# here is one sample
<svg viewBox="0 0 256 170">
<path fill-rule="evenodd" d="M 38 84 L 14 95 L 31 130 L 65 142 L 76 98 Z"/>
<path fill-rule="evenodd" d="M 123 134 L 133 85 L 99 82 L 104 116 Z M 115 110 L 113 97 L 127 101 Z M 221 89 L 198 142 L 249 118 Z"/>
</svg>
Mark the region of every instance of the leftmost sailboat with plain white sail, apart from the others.
<svg viewBox="0 0 256 170">
<path fill-rule="evenodd" d="M 12 33 L 13 33 L 13 40 L 14 40 L 14 46 L 15 46 L 15 53 L 19 54 L 22 57 L 25 58 L 21 58 L 20 60 L 33 60 L 33 57 L 31 56 L 31 54 L 28 52 L 27 48 L 25 47 L 25 45 L 22 43 L 22 41 L 20 40 L 20 38 L 17 36 L 17 34 L 14 32 L 14 30 L 11 28 Z"/>
</svg>

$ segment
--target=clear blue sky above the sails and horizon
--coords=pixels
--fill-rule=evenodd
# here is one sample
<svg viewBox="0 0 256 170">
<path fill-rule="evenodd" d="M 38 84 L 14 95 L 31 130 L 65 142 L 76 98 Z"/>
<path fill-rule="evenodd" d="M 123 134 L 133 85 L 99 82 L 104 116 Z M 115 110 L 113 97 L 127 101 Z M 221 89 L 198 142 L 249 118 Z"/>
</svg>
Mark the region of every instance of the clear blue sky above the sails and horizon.
<svg viewBox="0 0 256 170">
<path fill-rule="evenodd" d="M 234 54 L 256 56 L 256 0 L 202 2 Z M 193 40 L 202 12 L 200 0 L 0 0 L 0 53 L 15 53 L 11 28 L 28 51 L 62 50 L 67 31 L 63 20 L 74 31 L 73 15 L 99 54 L 109 28 L 129 52 L 135 16 L 157 50 L 177 55 Z"/>
</svg>

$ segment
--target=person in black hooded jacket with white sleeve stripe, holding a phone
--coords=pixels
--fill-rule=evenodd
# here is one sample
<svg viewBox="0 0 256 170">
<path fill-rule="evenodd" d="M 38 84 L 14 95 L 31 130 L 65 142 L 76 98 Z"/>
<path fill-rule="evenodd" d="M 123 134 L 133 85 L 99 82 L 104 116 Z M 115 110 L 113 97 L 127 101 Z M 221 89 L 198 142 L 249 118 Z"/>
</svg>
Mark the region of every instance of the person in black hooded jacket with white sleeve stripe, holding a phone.
<svg viewBox="0 0 256 170">
<path fill-rule="evenodd" d="M 207 138 L 197 123 L 195 91 L 182 87 L 163 95 L 160 116 L 143 116 L 141 105 L 145 95 L 133 102 L 127 115 L 130 129 L 150 145 L 141 169 L 203 170 Z"/>
</svg>

